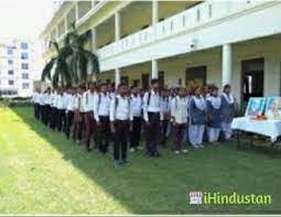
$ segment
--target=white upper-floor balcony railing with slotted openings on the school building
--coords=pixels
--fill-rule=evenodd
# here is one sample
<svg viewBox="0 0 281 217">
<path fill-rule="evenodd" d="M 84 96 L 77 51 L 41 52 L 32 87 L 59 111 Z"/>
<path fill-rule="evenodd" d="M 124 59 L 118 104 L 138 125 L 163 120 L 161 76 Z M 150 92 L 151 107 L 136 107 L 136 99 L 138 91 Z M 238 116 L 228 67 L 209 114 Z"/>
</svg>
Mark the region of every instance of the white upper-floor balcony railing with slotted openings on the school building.
<svg viewBox="0 0 281 217">
<path fill-rule="evenodd" d="M 266 3 L 266 1 L 205 1 L 159 22 L 155 26 L 149 26 L 106 45 L 98 50 L 97 53 L 101 59 L 105 59 L 176 34 L 196 31 L 197 28 L 201 28 L 204 24 L 242 12 L 262 3 Z"/>
</svg>

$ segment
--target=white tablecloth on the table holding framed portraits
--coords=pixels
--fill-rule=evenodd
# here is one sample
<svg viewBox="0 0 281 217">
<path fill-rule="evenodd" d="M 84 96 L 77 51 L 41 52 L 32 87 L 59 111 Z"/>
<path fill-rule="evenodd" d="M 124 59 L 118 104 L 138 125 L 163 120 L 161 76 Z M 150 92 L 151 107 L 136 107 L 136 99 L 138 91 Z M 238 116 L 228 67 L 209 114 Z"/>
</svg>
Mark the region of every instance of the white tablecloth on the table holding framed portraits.
<svg viewBox="0 0 281 217">
<path fill-rule="evenodd" d="M 231 128 L 269 137 L 271 142 L 277 141 L 277 138 L 281 135 L 281 120 L 251 120 L 241 117 L 233 120 Z"/>
</svg>

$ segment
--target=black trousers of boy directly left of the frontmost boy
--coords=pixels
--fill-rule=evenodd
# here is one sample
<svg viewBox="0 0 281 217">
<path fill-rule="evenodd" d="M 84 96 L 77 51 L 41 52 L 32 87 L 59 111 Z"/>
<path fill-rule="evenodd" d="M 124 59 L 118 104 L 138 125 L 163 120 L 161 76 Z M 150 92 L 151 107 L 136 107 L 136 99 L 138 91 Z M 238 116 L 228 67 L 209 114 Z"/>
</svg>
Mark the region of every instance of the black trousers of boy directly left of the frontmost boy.
<svg viewBox="0 0 281 217">
<path fill-rule="evenodd" d="M 108 152 L 109 137 L 110 137 L 110 126 L 108 116 L 99 116 L 99 126 L 98 129 L 98 149 L 102 153 Z"/>
</svg>

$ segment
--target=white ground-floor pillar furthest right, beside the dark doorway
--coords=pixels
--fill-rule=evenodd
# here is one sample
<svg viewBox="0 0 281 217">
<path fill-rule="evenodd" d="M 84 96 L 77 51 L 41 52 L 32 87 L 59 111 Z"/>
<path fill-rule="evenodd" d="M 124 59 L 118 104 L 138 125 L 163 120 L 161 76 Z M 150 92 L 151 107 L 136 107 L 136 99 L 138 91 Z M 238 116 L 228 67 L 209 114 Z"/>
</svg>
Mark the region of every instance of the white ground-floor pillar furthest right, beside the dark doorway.
<svg viewBox="0 0 281 217">
<path fill-rule="evenodd" d="M 233 54 L 231 44 L 223 45 L 223 74 L 221 74 L 221 87 L 227 84 L 231 84 L 233 74 Z"/>
</svg>

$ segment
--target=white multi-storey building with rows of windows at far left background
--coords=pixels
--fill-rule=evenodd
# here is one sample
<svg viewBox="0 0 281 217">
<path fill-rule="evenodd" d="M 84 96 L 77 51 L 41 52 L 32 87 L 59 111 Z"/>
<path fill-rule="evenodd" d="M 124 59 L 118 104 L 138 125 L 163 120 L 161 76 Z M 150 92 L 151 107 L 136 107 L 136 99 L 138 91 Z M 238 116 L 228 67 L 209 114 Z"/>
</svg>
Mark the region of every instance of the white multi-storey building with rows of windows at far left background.
<svg viewBox="0 0 281 217">
<path fill-rule="evenodd" d="M 33 93 L 33 43 L 21 40 L 0 42 L 0 96 L 30 97 Z"/>
</svg>

